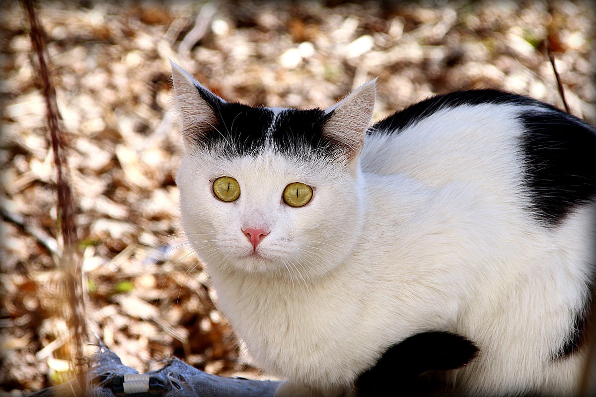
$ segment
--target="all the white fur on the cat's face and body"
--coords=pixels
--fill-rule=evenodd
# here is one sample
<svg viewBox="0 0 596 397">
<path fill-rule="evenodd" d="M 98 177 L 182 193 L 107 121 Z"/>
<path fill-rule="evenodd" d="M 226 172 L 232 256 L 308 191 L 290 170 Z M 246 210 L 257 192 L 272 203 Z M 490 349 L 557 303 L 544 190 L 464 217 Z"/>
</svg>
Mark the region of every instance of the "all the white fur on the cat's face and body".
<svg viewBox="0 0 596 397">
<path fill-rule="evenodd" d="M 525 209 L 520 110 L 438 111 L 398 135 L 368 136 L 351 170 L 187 146 L 184 230 L 254 360 L 288 379 L 276 396 L 339 395 L 388 346 L 427 330 L 480 348 L 454 371 L 458 395 L 576 393 L 583 354 L 551 358 L 590 276 L 590 209 L 556 228 Z M 238 180 L 237 201 L 213 196 L 219 176 Z M 284 204 L 291 182 L 314 187 L 305 207 Z M 249 256 L 246 227 L 271 230 L 262 258 Z"/>
</svg>

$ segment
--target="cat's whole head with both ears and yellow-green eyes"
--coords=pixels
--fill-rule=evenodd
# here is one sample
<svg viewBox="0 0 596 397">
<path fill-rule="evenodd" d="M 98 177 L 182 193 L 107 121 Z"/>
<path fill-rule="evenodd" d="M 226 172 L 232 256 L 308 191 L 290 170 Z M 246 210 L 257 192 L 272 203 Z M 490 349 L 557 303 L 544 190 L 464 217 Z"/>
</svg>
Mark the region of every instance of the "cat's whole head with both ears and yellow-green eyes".
<svg viewBox="0 0 596 397">
<path fill-rule="evenodd" d="M 300 280 L 344 261 L 361 229 L 374 82 L 327 110 L 294 110 L 226 102 L 175 64 L 172 79 L 182 226 L 207 266 Z"/>
</svg>

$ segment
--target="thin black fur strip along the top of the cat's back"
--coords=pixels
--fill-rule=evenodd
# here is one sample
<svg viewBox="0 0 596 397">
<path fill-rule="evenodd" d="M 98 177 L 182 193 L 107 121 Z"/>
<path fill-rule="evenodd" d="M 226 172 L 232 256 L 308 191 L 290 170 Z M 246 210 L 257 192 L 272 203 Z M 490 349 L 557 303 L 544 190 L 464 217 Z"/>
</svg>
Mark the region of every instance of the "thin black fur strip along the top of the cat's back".
<svg viewBox="0 0 596 397">
<path fill-rule="evenodd" d="M 499 90 L 486 89 L 458 91 L 433 96 L 432 98 L 411 105 L 402 111 L 396 112 L 386 119 L 374 124 L 373 128 L 369 130 L 369 133 L 399 133 L 406 127 L 409 127 L 444 108 L 480 104 L 540 104 L 541 106 L 552 108 L 550 105 L 542 104 L 541 102 L 527 98 L 526 96 Z"/>
</svg>

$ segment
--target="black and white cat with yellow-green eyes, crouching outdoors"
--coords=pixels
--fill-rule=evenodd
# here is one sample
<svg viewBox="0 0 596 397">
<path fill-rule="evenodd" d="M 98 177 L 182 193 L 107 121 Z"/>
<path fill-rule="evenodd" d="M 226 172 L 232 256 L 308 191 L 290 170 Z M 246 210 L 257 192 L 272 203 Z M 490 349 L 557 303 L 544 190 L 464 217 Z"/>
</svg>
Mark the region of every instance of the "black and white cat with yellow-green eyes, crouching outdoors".
<svg viewBox="0 0 596 397">
<path fill-rule="evenodd" d="M 175 64 L 172 81 L 182 228 L 247 352 L 287 379 L 276 397 L 357 395 L 433 333 L 473 347 L 452 395 L 578 393 L 594 127 L 500 90 L 370 126 L 375 81 L 326 110 L 226 102 Z"/>
</svg>

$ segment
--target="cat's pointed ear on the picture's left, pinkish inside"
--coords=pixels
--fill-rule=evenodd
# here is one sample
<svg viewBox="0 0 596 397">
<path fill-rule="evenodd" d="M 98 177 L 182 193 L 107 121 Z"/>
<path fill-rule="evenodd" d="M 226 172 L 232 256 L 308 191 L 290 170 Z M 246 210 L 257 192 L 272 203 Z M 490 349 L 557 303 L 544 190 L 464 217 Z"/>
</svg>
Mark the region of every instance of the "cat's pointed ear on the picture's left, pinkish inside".
<svg viewBox="0 0 596 397">
<path fill-rule="evenodd" d="M 218 127 L 219 109 L 226 102 L 201 86 L 174 62 L 170 61 L 170 64 L 176 104 L 182 120 L 182 135 L 185 140 L 196 142 L 206 132 Z"/>
</svg>

